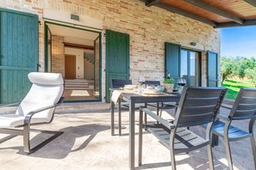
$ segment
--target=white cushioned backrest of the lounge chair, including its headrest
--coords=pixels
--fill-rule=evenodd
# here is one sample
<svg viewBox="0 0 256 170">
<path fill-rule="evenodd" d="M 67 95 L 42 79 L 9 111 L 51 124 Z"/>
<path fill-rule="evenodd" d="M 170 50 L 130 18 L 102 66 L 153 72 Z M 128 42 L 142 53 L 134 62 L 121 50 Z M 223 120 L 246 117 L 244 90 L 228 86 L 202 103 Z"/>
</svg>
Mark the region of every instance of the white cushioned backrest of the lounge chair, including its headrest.
<svg viewBox="0 0 256 170">
<path fill-rule="evenodd" d="M 58 103 L 64 92 L 64 81 L 61 74 L 32 72 L 28 74 L 28 79 L 33 84 L 16 110 L 16 114 L 26 116 L 28 112 Z M 54 109 L 36 113 L 33 118 L 50 122 Z"/>
</svg>

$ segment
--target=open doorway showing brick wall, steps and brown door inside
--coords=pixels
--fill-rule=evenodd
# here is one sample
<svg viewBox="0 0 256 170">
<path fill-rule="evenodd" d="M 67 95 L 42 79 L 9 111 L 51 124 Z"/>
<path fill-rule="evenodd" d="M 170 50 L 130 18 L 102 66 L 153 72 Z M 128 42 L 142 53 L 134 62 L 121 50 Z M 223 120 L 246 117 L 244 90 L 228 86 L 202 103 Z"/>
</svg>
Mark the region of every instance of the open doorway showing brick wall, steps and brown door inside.
<svg viewBox="0 0 256 170">
<path fill-rule="evenodd" d="M 46 71 L 65 77 L 66 101 L 101 100 L 100 35 L 46 22 Z"/>
</svg>

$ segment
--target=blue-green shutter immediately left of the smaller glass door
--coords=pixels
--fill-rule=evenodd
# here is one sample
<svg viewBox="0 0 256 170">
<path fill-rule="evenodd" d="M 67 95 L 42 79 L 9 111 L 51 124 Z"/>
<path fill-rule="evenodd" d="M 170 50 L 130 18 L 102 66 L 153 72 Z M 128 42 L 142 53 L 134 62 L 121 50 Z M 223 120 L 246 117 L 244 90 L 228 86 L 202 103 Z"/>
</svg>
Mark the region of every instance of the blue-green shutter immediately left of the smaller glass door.
<svg viewBox="0 0 256 170">
<path fill-rule="evenodd" d="M 180 72 L 180 50 L 180 45 L 165 42 L 165 76 L 167 76 L 167 73 L 171 74 L 175 81 L 174 88 L 177 88 L 177 81 Z"/>
</svg>

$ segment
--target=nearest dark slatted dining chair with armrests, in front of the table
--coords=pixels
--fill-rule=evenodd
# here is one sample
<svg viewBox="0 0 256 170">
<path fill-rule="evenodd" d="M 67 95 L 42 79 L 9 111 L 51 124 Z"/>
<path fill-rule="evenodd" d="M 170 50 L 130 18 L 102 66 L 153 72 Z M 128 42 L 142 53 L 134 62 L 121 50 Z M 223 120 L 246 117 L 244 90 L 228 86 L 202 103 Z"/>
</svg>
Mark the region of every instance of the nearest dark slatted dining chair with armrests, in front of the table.
<svg viewBox="0 0 256 170">
<path fill-rule="evenodd" d="M 184 87 L 173 124 L 147 108 L 140 108 L 139 165 L 141 165 L 142 159 L 142 119 L 143 112 L 145 112 L 159 122 L 159 124 L 146 124 L 147 131 L 153 133 L 160 143 L 170 150 L 172 170 L 176 169 L 176 154 L 187 153 L 204 146 L 207 146 L 208 149 L 209 167 L 214 169 L 210 146 L 210 130 L 226 91 L 226 88 Z M 208 124 L 206 138 L 199 137 L 186 129 L 188 126 L 201 124 Z"/>
</svg>

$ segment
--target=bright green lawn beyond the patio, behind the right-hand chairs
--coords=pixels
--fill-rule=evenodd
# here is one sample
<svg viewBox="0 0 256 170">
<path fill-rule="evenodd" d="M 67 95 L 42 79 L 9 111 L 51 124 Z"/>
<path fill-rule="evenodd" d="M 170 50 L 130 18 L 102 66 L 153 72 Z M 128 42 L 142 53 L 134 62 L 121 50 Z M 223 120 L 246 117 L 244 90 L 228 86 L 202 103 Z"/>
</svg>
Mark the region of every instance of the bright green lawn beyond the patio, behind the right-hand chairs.
<svg viewBox="0 0 256 170">
<path fill-rule="evenodd" d="M 254 88 L 254 85 L 250 80 L 225 80 L 222 87 L 228 88 L 227 98 L 235 99 L 240 88 Z"/>
</svg>

